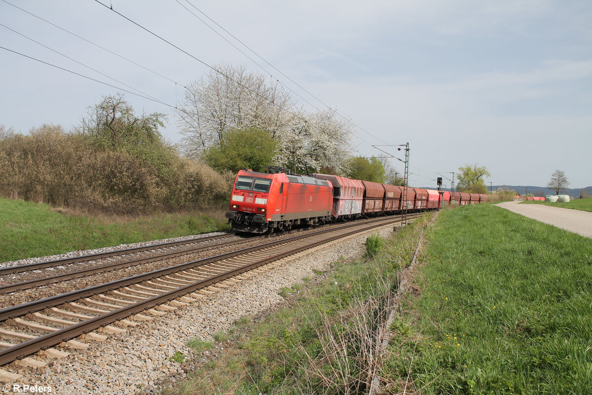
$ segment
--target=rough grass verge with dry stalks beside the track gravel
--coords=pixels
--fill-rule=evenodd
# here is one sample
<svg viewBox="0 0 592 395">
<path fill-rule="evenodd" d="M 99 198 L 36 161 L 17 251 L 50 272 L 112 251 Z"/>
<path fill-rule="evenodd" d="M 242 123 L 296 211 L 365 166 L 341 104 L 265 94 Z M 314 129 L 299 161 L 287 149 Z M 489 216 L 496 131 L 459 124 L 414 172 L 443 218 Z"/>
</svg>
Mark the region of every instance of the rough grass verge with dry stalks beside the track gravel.
<svg viewBox="0 0 592 395">
<path fill-rule="evenodd" d="M 382 240 L 382 255 L 337 262 L 317 284 L 293 287 L 302 289 L 265 320 L 234 323 L 224 354 L 165 394 L 365 393 L 398 271 L 431 217 Z"/>
</svg>

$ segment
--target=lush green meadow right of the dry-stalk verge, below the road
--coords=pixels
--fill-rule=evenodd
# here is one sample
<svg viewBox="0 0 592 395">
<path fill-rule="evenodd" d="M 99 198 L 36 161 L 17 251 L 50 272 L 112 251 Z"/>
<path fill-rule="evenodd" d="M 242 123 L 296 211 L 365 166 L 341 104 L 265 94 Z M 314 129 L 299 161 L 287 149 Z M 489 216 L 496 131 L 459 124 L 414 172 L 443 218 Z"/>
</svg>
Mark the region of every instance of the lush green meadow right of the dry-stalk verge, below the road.
<svg viewBox="0 0 592 395">
<path fill-rule="evenodd" d="M 422 394 L 592 393 L 591 239 L 480 204 L 443 211 L 423 260 L 385 377 Z"/>
</svg>

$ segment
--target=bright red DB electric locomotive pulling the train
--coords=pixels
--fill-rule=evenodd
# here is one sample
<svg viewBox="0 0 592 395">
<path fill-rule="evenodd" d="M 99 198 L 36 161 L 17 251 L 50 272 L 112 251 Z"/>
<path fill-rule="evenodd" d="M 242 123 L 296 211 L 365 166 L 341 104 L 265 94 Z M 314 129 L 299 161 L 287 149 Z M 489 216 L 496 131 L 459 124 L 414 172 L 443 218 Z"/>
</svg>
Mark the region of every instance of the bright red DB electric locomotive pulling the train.
<svg viewBox="0 0 592 395">
<path fill-rule="evenodd" d="M 333 186 L 329 181 L 241 170 L 234 180 L 226 217 L 233 229 L 265 233 L 329 221 L 332 206 Z"/>
</svg>

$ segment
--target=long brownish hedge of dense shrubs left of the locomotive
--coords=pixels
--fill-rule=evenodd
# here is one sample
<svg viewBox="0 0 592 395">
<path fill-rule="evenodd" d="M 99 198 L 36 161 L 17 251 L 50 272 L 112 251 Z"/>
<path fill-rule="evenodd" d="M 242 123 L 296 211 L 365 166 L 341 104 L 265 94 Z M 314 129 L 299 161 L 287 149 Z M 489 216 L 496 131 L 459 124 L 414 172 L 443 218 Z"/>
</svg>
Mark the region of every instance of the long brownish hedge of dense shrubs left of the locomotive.
<svg viewBox="0 0 592 395">
<path fill-rule="evenodd" d="M 47 124 L 28 135 L 2 133 L 0 195 L 117 213 L 205 208 L 229 198 L 233 174 L 165 151 L 153 162 Z"/>
</svg>

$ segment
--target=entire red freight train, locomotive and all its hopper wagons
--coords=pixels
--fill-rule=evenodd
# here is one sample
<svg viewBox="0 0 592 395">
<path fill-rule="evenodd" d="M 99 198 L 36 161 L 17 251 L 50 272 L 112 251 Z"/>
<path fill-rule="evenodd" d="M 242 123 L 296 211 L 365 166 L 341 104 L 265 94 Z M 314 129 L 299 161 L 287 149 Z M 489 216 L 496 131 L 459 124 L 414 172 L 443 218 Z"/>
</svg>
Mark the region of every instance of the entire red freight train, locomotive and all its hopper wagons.
<svg viewBox="0 0 592 395">
<path fill-rule="evenodd" d="M 226 218 L 239 232 L 271 233 L 406 209 L 437 210 L 446 204 L 481 203 L 486 196 L 407 188 L 405 198 L 405 189 L 329 174 L 288 174 L 282 168 L 270 168 L 266 173 L 241 170 L 234 179 Z"/>
</svg>

